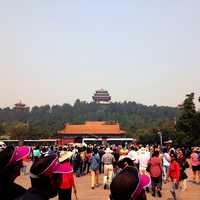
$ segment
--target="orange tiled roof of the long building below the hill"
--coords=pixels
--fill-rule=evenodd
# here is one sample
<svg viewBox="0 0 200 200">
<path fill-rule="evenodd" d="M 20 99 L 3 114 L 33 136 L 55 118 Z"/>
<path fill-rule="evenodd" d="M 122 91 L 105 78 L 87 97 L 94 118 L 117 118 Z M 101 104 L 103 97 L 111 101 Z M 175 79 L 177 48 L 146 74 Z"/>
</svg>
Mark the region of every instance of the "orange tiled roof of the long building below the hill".
<svg viewBox="0 0 200 200">
<path fill-rule="evenodd" d="M 104 121 L 87 121 L 85 124 L 65 124 L 58 134 L 67 135 L 124 135 L 126 132 L 120 129 L 119 123 L 108 124 Z"/>
</svg>

